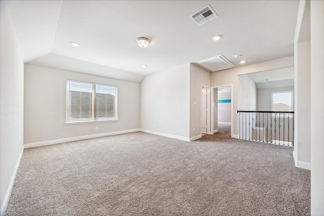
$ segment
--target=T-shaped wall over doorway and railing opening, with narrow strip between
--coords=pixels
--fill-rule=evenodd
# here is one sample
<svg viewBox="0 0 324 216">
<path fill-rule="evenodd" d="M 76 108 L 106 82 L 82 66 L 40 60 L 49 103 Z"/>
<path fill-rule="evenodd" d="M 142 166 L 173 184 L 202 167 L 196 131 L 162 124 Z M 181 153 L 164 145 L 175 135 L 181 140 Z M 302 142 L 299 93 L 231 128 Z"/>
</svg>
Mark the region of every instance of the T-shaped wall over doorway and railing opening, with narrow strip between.
<svg viewBox="0 0 324 216">
<path fill-rule="evenodd" d="M 233 135 L 237 136 L 237 86 L 238 86 L 238 77 L 240 74 L 247 74 L 265 70 L 272 70 L 277 68 L 292 67 L 294 66 L 294 57 L 286 57 L 281 59 L 275 59 L 266 62 L 260 62 L 256 64 L 234 67 L 227 70 L 216 71 L 212 73 L 211 76 L 211 85 L 220 86 L 220 85 L 229 85 L 233 84 Z"/>
</svg>

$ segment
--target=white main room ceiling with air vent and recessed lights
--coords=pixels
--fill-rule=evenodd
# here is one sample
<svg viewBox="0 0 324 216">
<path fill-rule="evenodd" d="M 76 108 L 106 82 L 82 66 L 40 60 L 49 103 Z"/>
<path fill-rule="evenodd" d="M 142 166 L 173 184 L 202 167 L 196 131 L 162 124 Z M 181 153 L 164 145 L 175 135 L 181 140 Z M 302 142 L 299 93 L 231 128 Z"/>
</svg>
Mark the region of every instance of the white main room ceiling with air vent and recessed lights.
<svg viewBox="0 0 324 216">
<path fill-rule="evenodd" d="M 100 67 L 97 73 L 107 77 L 118 74 L 117 69 L 121 77 L 132 72 L 128 80 L 140 82 L 147 74 L 217 55 L 223 55 L 235 67 L 241 66 L 239 61 L 243 59 L 246 64 L 254 64 L 293 56 L 299 1 L 8 4 L 25 63 L 73 71 L 86 67 L 83 72 L 89 74 Z M 198 26 L 189 16 L 207 5 L 218 17 Z M 217 34 L 222 38 L 213 41 L 212 36 Z M 151 40 L 145 49 L 135 41 L 141 36 Z M 70 41 L 78 42 L 80 47 L 72 47 Z M 234 58 L 236 54 L 242 56 Z M 75 65 L 80 61 L 82 66 Z M 141 67 L 143 64 L 148 67 Z"/>
</svg>

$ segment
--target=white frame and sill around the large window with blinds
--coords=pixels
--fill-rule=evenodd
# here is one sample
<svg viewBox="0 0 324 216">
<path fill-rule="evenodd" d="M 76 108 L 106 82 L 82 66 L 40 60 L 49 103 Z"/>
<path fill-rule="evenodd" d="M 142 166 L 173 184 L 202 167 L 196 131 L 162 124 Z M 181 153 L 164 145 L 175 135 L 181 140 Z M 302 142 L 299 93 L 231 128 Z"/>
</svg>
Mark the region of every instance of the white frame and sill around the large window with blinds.
<svg viewBox="0 0 324 216">
<path fill-rule="evenodd" d="M 68 120 L 68 82 L 76 82 L 76 83 L 85 83 L 85 84 L 92 84 L 92 85 L 101 85 L 101 86 L 105 86 L 105 87 L 112 87 L 115 89 L 115 98 L 114 98 L 114 113 L 115 113 L 115 117 L 114 118 L 96 118 L 96 116 L 94 116 L 94 119 L 76 119 L 76 120 Z M 93 107 L 93 109 L 96 109 L 96 104 L 97 104 L 97 100 L 96 100 L 96 92 L 94 92 L 96 88 L 92 88 L 92 95 L 94 98 L 92 98 L 92 102 L 91 105 Z M 97 82 L 87 82 L 87 81 L 80 81 L 80 80 L 73 80 L 73 79 L 66 79 L 65 80 L 65 122 L 64 124 L 84 124 L 84 123 L 95 123 L 95 122 L 114 122 L 114 121 L 118 121 L 118 87 L 117 85 L 110 85 L 110 84 L 103 84 L 103 83 L 97 83 Z M 96 111 L 93 111 L 94 113 L 96 113 Z"/>
</svg>

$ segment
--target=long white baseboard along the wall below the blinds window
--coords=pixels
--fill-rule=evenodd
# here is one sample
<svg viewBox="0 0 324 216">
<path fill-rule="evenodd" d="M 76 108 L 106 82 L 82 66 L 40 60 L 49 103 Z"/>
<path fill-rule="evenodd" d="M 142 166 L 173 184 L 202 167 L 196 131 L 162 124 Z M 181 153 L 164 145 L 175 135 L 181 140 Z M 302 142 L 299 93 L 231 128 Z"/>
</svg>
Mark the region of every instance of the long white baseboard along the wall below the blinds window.
<svg viewBox="0 0 324 216">
<path fill-rule="evenodd" d="M 77 140 L 86 140 L 86 139 L 91 139 L 91 138 L 106 137 L 106 136 L 118 135 L 118 134 L 127 134 L 127 133 L 139 132 L 139 131 L 140 131 L 140 129 L 138 128 L 138 129 L 130 129 L 127 131 L 117 131 L 117 132 L 109 132 L 109 133 L 103 133 L 103 134 L 86 135 L 86 136 L 80 136 L 80 137 L 70 137 L 70 138 L 59 139 L 59 140 L 49 140 L 49 141 L 44 141 L 44 142 L 26 143 L 26 144 L 24 144 L 24 148 L 47 146 L 47 145 L 53 145 L 53 144 L 59 144 L 59 143 L 73 142 L 73 141 L 77 141 Z"/>
</svg>

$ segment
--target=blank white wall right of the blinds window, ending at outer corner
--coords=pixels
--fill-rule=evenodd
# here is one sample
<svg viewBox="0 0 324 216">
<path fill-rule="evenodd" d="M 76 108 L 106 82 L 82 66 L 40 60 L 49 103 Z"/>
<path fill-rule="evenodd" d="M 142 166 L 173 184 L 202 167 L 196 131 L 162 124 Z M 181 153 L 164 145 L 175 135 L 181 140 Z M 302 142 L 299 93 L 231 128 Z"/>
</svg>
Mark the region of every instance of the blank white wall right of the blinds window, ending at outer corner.
<svg viewBox="0 0 324 216">
<path fill-rule="evenodd" d="M 189 88 L 190 64 L 147 75 L 141 82 L 142 131 L 188 140 Z"/>
</svg>

